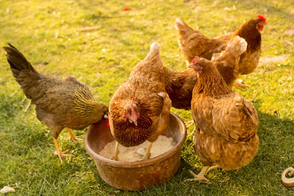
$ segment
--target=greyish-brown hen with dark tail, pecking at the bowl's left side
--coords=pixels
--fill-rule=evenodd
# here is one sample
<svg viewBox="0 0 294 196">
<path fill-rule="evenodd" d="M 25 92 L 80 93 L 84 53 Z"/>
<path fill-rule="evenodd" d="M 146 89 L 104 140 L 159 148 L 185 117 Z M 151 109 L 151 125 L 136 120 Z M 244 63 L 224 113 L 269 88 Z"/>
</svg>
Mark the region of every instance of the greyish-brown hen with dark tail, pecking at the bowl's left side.
<svg viewBox="0 0 294 196">
<path fill-rule="evenodd" d="M 67 128 L 73 141 L 71 129 L 84 129 L 99 122 L 108 112 L 108 106 L 95 101 L 90 88 L 77 81 L 74 76 L 54 77 L 38 73 L 15 47 L 3 47 L 12 75 L 21 85 L 25 96 L 36 105 L 37 119 L 51 129 L 51 135 L 62 161 L 57 138 Z M 105 116 L 107 117 L 107 116 Z M 65 152 L 64 152 L 65 153 Z"/>
</svg>

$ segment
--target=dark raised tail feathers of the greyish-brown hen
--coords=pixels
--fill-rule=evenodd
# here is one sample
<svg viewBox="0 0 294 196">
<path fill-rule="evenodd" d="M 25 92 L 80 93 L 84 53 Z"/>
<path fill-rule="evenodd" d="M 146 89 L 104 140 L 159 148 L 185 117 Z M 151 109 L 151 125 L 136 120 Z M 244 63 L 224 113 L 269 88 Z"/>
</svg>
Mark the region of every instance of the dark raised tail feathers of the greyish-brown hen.
<svg viewBox="0 0 294 196">
<path fill-rule="evenodd" d="M 14 46 L 9 44 L 9 47 L 3 47 L 3 49 L 7 52 L 6 58 L 10 65 L 10 69 L 15 78 L 17 78 L 18 74 L 23 70 L 29 70 L 34 73 L 38 73 L 32 65 L 26 60 L 25 56 L 16 49 Z"/>
</svg>

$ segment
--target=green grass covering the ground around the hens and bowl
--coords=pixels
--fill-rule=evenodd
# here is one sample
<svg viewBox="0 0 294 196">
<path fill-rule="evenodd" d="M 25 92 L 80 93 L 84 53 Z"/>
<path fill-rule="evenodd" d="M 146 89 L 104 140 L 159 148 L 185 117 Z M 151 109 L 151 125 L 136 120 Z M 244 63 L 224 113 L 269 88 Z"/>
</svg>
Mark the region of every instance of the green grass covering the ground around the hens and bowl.
<svg viewBox="0 0 294 196">
<path fill-rule="evenodd" d="M 232 9 L 234 4 L 237 10 Z M 24 113 L 28 99 L 23 100 L 1 49 L 0 188 L 9 185 L 17 194 L 8 195 L 29 196 L 294 195 L 294 188 L 285 187 L 280 180 L 281 172 L 294 166 L 294 46 L 286 42 L 294 41 L 289 33 L 294 26 L 293 4 L 293 0 L 0 0 L 0 46 L 9 42 L 20 49 L 40 73 L 75 75 L 104 103 L 145 57 L 152 42 L 161 45 L 165 66 L 186 69 L 173 27 L 177 17 L 207 36 L 216 36 L 264 14 L 268 25 L 262 32 L 261 56 L 285 57 L 259 64 L 254 73 L 242 76 L 251 85 L 249 89 L 234 89 L 254 101 L 260 120 L 260 146 L 249 165 L 237 171 L 209 172 L 209 185 L 183 183 L 191 178 L 188 170 L 201 165 L 188 139 L 180 169 L 170 181 L 146 191 L 117 193 L 100 178 L 83 143 L 73 144 L 66 131 L 58 141 L 74 156 L 61 164 L 53 155 L 49 128 L 36 119 L 33 106 Z M 124 11 L 124 6 L 130 10 Z M 85 26 L 99 28 L 79 31 Z M 49 64 L 42 64 L 44 61 Z M 190 111 L 172 111 L 184 121 L 192 119 Z"/>
</svg>

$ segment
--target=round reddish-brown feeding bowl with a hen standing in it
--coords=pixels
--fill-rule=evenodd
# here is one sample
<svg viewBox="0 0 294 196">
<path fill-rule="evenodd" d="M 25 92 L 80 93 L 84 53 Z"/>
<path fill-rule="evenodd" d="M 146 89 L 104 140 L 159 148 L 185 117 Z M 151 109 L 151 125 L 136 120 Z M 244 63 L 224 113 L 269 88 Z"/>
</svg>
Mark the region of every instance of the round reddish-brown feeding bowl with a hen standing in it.
<svg viewBox="0 0 294 196">
<path fill-rule="evenodd" d="M 172 138 L 175 143 L 175 146 L 164 154 L 143 161 L 114 161 L 99 155 L 106 144 L 114 141 L 107 120 L 102 120 L 88 128 L 85 147 L 93 157 L 101 178 L 107 184 L 128 191 L 144 190 L 149 186 L 167 182 L 180 166 L 181 147 L 187 136 L 185 123 L 171 112 L 169 126 L 161 135 Z"/>
</svg>

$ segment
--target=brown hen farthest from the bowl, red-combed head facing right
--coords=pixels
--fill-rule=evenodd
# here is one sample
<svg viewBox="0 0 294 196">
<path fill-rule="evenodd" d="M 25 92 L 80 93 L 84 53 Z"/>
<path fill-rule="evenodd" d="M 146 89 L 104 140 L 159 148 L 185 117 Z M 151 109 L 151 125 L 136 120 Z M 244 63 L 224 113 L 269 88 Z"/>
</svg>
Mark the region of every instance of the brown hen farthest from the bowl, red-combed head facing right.
<svg viewBox="0 0 294 196">
<path fill-rule="evenodd" d="M 247 42 L 247 50 L 241 55 L 240 69 L 238 74 L 252 73 L 258 65 L 261 52 L 261 33 L 266 19 L 262 15 L 248 20 L 241 25 L 234 34 L 220 35 L 214 38 L 204 36 L 200 31 L 192 29 L 181 19 L 175 20 L 175 27 L 178 30 L 178 44 L 181 52 L 186 58 L 187 65 L 192 62 L 195 56 L 211 60 L 214 53 L 220 53 L 227 46 L 232 36 L 240 36 Z M 242 83 L 235 82 L 237 88 L 247 87 Z"/>
</svg>

